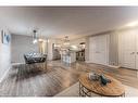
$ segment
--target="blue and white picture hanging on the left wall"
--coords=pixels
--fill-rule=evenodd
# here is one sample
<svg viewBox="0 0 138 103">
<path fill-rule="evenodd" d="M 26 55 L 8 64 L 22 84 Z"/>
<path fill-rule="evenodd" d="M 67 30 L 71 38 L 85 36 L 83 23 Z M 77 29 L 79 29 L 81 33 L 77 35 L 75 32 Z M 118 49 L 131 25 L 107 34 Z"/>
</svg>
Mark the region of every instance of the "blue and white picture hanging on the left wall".
<svg viewBox="0 0 138 103">
<path fill-rule="evenodd" d="M 2 37 L 2 43 L 3 44 L 9 44 L 11 40 L 11 36 L 7 34 L 7 31 L 1 30 L 1 37 Z"/>
</svg>

